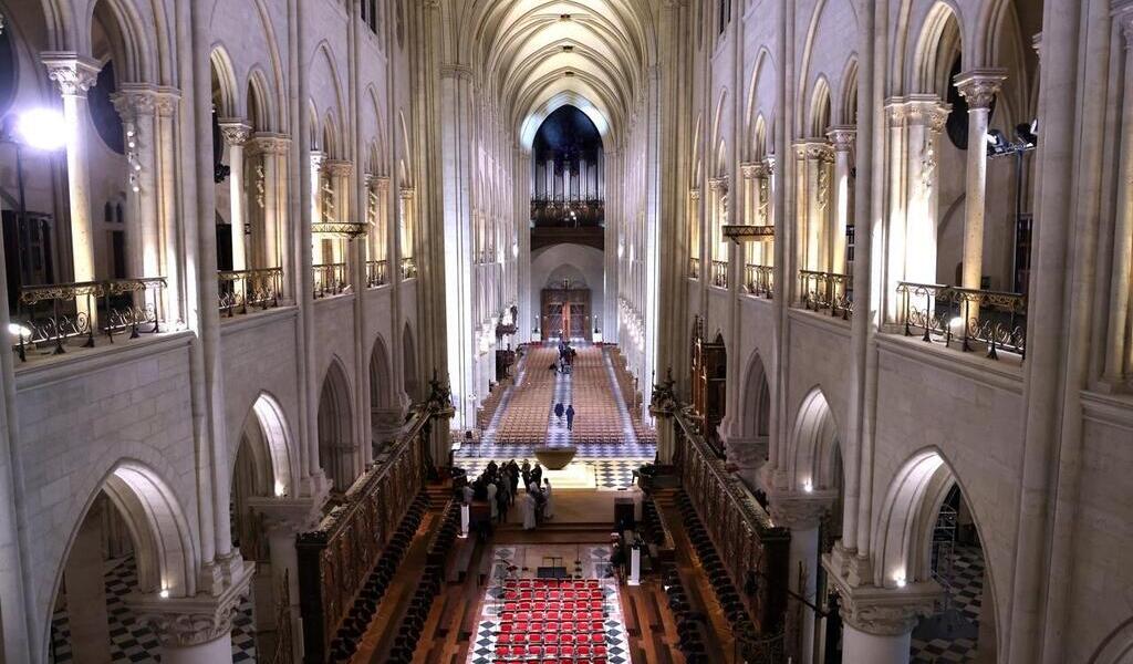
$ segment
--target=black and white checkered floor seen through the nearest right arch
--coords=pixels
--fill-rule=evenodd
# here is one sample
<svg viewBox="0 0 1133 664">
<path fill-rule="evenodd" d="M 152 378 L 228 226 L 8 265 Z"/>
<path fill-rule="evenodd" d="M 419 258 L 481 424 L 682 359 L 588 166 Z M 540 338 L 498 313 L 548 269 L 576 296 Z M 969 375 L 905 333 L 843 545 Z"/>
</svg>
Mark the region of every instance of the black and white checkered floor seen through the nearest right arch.
<svg viewBox="0 0 1133 664">
<path fill-rule="evenodd" d="M 957 544 L 951 565 L 945 565 L 944 581 L 948 594 L 944 604 L 947 614 L 921 621 L 913 630 L 911 664 L 974 661 L 983 601 L 983 552 L 980 547 Z"/>
</svg>

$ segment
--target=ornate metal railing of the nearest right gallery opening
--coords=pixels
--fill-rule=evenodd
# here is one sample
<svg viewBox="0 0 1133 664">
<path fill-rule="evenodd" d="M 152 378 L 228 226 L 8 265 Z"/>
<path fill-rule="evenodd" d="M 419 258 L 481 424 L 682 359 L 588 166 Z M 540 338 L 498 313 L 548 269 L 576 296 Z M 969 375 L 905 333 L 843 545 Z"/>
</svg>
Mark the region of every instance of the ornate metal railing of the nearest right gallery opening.
<svg viewBox="0 0 1133 664">
<path fill-rule="evenodd" d="M 1025 295 L 902 281 L 897 296 L 905 337 L 919 330 L 921 340 L 935 337 L 947 347 L 959 341 L 964 352 L 974 350 L 974 342 L 985 344 L 991 359 L 999 359 L 999 350 L 1026 357 Z"/>
</svg>

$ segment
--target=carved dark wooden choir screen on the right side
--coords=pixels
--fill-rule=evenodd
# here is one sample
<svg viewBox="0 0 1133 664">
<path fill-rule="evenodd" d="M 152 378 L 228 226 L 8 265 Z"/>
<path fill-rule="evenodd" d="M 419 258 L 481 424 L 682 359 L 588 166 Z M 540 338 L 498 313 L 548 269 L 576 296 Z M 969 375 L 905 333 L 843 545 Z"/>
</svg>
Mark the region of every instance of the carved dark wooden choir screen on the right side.
<svg viewBox="0 0 1133 664">
<path fill-rule="evenodd" d="M 757 576 L 756 595 L 740 593 L 756 628 L 764 635 L 782 630 L 787 596 L 786 586 L 777 580 L 790 573 L 790 531 L 772 523 L 770 516 L 727 471 L 691 423 L 676 415 L 673 426 L 681 484 L 732 582 L 742 589 L 749 573 Z"/>
</svg>

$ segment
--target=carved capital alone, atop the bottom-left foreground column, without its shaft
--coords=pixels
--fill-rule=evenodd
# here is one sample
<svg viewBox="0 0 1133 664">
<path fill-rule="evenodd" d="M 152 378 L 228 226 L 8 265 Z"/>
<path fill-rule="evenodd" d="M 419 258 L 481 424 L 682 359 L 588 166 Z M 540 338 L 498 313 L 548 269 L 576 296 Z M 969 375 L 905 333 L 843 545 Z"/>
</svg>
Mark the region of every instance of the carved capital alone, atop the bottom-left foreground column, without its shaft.
<svg viewBox="0 0 1133 664">
<path fill-rule="evenodd" d="M 244 563 L 218 596 L 161 597 L 151 593 L 127 597 L 126 603 L 163 646 L 199 646 L 232 631 L 232 618 L 248 596 L 254 568 L 255 563 Z"/>
</svg>

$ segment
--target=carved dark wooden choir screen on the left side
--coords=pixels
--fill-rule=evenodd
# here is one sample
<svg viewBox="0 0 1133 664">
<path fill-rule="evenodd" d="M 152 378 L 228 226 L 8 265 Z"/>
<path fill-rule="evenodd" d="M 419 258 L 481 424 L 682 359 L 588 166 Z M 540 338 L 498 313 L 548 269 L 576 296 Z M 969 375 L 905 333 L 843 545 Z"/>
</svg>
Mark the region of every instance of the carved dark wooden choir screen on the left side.
<svg viewBox="0 0 1133 664">
<path fill-rule="evenodd" d="M 425 454 L 432 412 L 423 410 L 385 462 L 375 465 L 346 494 L 318 529 L 299 535 L 299 607 L 304 662 L 329 662 L 342 625 L 382 547 L 425 486 Z"/>
</svg>

